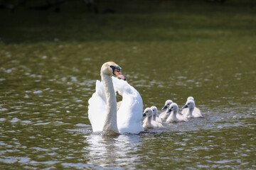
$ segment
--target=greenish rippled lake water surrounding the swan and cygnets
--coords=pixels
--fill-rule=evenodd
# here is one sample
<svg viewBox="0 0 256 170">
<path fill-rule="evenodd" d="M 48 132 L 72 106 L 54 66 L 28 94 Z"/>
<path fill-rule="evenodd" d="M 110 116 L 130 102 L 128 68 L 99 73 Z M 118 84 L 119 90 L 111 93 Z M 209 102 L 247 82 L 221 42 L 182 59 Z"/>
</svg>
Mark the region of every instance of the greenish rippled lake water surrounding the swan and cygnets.
<svg viewBox="0 0 256 170">
<path fill-rule="evenodd" d="M 38 12 L 34 26 L 1 27 L 0 169 L 256 169 L 255 11 L 163 6 L 64 23 L 54 13 L 37 23 L 46 14 Z M 181 108 L 193 96 L 204 117 L 141 135 L 93 134 L 87 101 L 107 61 L 144 108 L 166 99 Z"/>
</svg>

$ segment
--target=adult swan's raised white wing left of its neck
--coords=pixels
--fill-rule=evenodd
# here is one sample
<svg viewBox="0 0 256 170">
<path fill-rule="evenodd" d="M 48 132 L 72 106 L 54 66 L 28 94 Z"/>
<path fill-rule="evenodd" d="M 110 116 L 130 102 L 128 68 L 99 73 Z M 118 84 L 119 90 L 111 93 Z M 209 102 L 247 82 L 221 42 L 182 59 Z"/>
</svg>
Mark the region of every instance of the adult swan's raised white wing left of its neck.
<svg viewBox="0 0 256 170">
<path fill-rule="evenodd" d="M 95 89 L 95 93 L 88 101 L 88 118 L 93 132 L 102 131 L 107 108 L 102 82 L 97 80 Z"/>
</svg>

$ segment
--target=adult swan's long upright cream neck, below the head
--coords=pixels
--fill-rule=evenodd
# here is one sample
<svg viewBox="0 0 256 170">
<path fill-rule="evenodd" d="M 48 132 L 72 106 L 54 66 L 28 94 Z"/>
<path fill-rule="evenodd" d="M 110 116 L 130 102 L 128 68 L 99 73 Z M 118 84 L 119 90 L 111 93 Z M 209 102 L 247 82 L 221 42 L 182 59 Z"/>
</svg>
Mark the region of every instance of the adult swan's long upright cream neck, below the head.
<svg viewBox="0 0 256 170">
<path fill-rule="evenodd" d="M 102 130 L 119 133 L 117 128 L 117 98 L 114 92 L 112 77 L 105 74 L 102 74 L 101 77 L 105 96 L 107 98 L 106 119 Z"/>
</svg>

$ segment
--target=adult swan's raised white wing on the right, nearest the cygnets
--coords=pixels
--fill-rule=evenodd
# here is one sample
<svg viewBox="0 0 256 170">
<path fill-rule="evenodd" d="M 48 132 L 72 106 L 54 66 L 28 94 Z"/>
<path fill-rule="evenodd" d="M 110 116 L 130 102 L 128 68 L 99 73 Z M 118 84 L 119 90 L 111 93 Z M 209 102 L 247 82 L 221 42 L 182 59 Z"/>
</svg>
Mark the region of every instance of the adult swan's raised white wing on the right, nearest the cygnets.
<svg viewBox="0 0 256 170">
<path fill-rule="evenodd" d="M 117 111 L 117 127 L 119 133 L 139 133 L 142 127 L 143 102 L 139 92 L 127 81 L 112 77 L 114 90 L 122 95 L 122 104 Z"/>
</svg>

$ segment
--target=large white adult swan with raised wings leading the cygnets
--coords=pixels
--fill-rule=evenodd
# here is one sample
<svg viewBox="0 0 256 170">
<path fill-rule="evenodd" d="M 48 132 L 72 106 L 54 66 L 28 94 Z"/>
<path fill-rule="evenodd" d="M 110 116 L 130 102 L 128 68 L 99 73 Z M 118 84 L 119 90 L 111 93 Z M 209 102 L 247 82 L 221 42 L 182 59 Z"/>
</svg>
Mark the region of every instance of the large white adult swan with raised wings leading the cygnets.
<svg viewBox="0 0 256 170">
<path fill-rule="evenodd" d="M 117 76 L 120 79 L 117 79 Z M 102 64 L 102 81 L 96 81 L 96 91 L 88 103 L 88 118 L 93 132 L 106 131 L 123 134 L 138 134 L 142 127 L 143 103 L 139 92 L 130 86 L 114 62 Z M 122 96 L 117 111 L 116 91 Z"/>
</svg>

